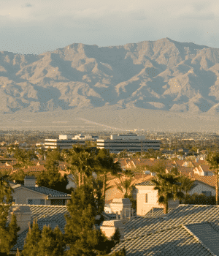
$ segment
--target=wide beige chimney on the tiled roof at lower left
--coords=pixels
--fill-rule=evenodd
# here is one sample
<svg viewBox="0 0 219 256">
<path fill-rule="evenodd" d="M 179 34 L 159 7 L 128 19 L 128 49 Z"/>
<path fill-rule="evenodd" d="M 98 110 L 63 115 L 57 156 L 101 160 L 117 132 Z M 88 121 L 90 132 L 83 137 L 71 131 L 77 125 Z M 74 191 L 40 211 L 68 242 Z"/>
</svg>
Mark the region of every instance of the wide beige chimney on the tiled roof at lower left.
<svg viewBox="0 0 219 256">
<path fill-rule="evenodd" d="M 28 223 L 31 223 L 31 208 L 30 206 L 11 206 L 9 209 L 9 221 L 12 214 L 15 214 L 17 224 L 20 227 L 18 235 L 28 228 Z"/>
</svg>

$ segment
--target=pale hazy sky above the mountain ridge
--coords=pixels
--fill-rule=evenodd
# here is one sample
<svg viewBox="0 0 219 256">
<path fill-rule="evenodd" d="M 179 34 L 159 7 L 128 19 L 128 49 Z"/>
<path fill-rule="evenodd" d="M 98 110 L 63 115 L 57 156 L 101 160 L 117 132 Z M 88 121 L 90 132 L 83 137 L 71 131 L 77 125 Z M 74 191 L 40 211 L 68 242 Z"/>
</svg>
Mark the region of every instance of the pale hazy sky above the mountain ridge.
<svg viewBox="0 0 219 256">
<path fill-rule="evenodd" d="M 74 42 L 164 37 L 219 48 L 218 10 L 217 0 L 1 0 L 0 51 L 38 54 Z"/>
</svg>

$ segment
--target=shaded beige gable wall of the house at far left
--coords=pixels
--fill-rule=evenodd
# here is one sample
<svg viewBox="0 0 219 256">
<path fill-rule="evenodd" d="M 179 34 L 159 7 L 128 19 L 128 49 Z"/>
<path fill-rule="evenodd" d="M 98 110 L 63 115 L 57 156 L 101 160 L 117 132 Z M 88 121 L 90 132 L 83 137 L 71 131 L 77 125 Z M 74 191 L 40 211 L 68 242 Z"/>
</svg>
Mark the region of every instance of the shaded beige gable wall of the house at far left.
<svg viewBox="0 0 219 256">
<path fill-rule="evenodd" d="M 31 191 L 25 187 L 19 187 L 12 193 L 13 199 L 17 204 L 28 204 L 28 199 L 45 199 L 45 204 L 50 205 L 50 200 L 47 200 L 47 195 L 43 195 L 39 192 Z"/>
</svg>

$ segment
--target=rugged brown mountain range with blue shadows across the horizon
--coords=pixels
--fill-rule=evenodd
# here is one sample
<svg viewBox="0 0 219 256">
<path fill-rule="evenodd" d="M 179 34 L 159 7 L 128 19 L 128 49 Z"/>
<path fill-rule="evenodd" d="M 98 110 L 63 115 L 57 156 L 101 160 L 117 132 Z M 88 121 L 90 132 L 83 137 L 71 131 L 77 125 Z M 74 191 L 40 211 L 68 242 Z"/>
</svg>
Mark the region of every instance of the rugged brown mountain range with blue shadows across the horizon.
<svg viewBox="0 0 219 256">
<path fill-rule="evenodd" d="M 1 51 L 0 115 L 82 118 L 108 109 L 218 119 L 218 71 L 218 48 L 167 37 L 109 47 L 73 43 L 39 55 Z"/>
</svg>

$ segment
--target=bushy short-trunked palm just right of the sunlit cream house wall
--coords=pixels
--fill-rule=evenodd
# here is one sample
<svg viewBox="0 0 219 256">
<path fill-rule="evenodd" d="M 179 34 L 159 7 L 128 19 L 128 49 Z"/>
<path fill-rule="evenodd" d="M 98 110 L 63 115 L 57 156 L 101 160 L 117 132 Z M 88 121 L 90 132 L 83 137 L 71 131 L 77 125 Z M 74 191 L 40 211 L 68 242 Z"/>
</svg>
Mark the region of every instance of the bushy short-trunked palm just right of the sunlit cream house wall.
<svg viewBox="0 0 219 256">
<path fill-rule="evenodd" d="M 169 200 L 183 199 L 184 194 L 180 190 L 180 177 L 170 173 L 157 173 L 157 176 L 151 179 L 155 184 L 154 190 L 158 190 L 158 203 L 164 206 L 164 214 L 168 213 Z"/>
</svg>

